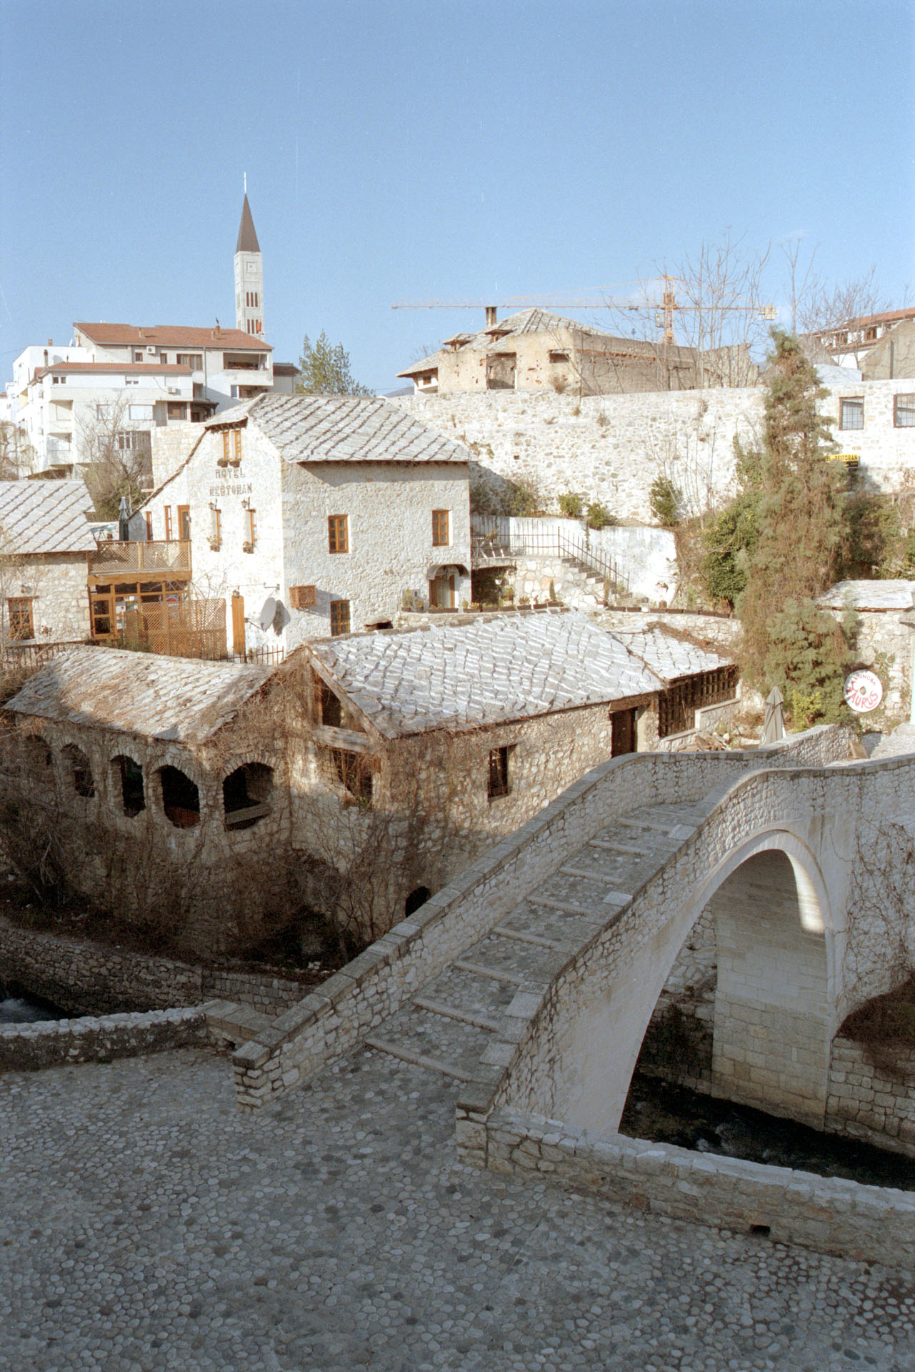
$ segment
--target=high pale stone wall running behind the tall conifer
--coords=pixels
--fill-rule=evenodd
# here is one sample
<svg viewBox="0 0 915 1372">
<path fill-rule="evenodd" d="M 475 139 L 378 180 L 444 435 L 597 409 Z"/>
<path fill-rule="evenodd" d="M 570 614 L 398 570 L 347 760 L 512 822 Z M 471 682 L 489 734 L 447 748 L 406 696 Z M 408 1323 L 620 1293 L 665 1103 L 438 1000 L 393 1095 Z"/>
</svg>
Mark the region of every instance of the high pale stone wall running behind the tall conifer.
<svg viewBox="0 0 915 1372">
<path fill-rule="evenodd" d="M 842 451 L 860 456 L 861 479 L 899 490 L 915 466 L 915 429 L 893 427 L 893 395 L 915 381 L 857 381 L 833 387 L 823 414 L 837 425 L 838 401 L 864 397 L 864 428 L 834 431 Z M 678 486 L 690 510 L 720 499 L 734 484 L 734 438 L 761 432 L 765 390 L 654 391 L 582 399 L 532 391 L 413 395 L 396 399 L 416 418 L 465 440 L 482 490 L 536 473 L 556 499 L 580 491 L 621 520 L 650 521 L 656 476 Z"/>
</svg>

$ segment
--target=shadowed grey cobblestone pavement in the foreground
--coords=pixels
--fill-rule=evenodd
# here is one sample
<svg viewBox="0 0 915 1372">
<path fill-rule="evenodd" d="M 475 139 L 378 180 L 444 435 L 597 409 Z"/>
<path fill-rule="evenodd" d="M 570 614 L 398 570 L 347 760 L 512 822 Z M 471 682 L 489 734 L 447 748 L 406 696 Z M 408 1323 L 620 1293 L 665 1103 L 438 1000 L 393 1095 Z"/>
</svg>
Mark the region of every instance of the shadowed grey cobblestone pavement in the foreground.
<svg viewBox="0 0 915 1372">
<path fill-rule="evenodd" d="M 3 1372 L 915 1369 L 911 1275 L 464 1168 L 453 1088 L 370 1051 L 255 1118 L 187 1050 L 0 1121 Z"/>
</svg>

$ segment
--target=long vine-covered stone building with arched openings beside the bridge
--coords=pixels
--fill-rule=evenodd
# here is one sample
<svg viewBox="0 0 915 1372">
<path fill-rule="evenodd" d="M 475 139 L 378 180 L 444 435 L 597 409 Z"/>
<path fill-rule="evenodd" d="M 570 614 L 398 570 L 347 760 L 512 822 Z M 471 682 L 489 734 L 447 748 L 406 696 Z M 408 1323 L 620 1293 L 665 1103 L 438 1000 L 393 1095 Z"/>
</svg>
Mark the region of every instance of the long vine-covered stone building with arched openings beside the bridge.
<svg viewBox="0 0 915 1372">
<path fill-rule="evenodd" d="M 296 921 L 353 947 L 653 746 L 667 690 L 569 611 L 307 642 L 273 670 L 74 648 L 10 701 L 7 823 L 188 947 Z"/>
</svg>

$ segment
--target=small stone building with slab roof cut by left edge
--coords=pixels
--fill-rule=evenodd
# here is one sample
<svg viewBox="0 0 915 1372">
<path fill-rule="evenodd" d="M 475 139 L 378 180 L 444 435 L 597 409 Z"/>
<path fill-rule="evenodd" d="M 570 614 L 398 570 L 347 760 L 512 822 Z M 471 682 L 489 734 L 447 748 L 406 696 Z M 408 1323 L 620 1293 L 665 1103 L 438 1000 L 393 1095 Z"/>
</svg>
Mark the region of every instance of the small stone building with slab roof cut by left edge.
<svg viewBox="0 0 915 1372">
<path fill-rule="evenodd" d="M 89 634 L 86 554 L 96 543 L 82 482 L 0 482 L 0 642 Z"/>
</svg>

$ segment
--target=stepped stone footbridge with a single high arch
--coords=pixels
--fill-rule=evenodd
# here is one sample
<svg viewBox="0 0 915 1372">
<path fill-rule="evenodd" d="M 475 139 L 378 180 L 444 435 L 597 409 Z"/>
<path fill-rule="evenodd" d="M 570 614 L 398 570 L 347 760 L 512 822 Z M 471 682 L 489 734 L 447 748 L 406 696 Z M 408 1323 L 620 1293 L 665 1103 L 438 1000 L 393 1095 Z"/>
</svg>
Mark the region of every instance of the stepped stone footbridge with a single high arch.
<svg viewBox="0 0 915 1372">
<path fill-rule="evenodd" d="M 506 1107 L 612 1135 L 704 929 L 712 1091 L 822 1126 L 838 1026 L 915 951 L 915 756 L 848 752 L 824 727 L 602 764 L 237 1048 L 239 1103 L 368 1043 L 453 1078 L 471 1135 Z"/>
</svg>

